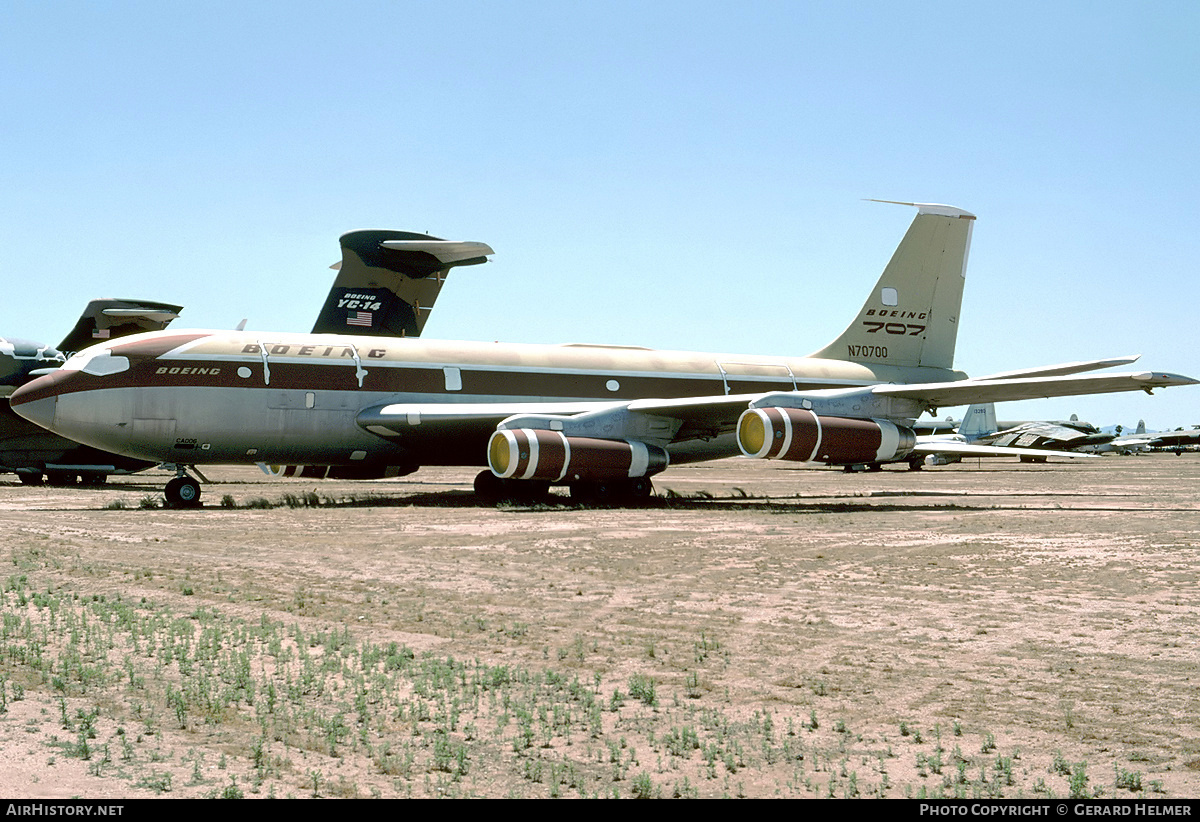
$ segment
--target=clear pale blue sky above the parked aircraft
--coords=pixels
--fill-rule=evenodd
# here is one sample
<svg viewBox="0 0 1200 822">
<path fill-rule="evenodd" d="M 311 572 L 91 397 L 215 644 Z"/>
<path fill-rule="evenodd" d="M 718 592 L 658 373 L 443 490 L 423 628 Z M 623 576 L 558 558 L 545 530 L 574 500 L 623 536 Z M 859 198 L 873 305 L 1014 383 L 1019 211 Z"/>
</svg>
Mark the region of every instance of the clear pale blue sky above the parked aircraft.
<svg viewBox="0 0 1200 822">
<path fill-rule="evenodd" d="M 497 251 L 427 336 L 806 354 L 913 216 L 875 197 L 978 215 L 968 373 L 1200 377 L 1196 43 L 1195 2 L 6 1 L 0 332 L 306 331 L 337 236 L 400 228 Z M 1073 412 L 1200 388 L 1001 407 Z"/>
</svg>

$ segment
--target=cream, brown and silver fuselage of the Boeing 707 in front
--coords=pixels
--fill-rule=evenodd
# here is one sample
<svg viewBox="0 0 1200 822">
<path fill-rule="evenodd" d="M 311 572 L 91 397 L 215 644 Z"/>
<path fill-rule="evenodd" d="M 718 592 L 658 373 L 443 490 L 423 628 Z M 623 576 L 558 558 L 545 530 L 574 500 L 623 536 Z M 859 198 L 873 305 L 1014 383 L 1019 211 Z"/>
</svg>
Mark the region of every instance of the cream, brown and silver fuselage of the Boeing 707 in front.
<svg viewBox="0 0 1200 822">
<path fill-rule="evenodd" d="M 514 414 L 962 379 L 946 368 L 610 346 L 161 331 L 92 349 L 14 396 L 72 439 L 182 464 L 485 466 Z M 672 462 L 738 454 L 685 422 Z"/>
</svg>

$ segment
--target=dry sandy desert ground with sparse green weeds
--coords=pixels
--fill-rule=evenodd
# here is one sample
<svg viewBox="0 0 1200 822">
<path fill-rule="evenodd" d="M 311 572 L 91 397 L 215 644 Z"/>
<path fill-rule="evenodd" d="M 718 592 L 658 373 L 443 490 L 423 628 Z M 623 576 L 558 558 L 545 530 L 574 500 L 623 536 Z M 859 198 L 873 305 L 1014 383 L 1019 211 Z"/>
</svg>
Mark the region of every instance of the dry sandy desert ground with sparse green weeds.
<svg viewBox="0 0 1200 822">
<path fill-rule="evenodd" d="M 0 476 L 0 796 L 1196 797 L 1200 455 Z"/>
</svg>

